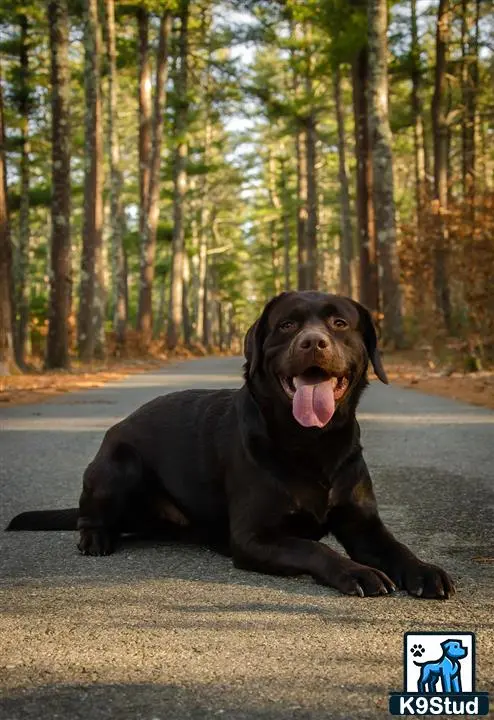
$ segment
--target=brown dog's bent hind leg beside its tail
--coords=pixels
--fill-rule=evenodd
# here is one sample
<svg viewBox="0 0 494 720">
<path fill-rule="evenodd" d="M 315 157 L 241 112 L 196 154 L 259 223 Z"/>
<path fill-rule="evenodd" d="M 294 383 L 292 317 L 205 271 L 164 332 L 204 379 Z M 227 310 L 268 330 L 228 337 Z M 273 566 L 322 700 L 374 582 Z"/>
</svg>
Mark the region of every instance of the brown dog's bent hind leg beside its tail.
<svg viewBox="0 0 494 720">
<path fill-rule="evenodd" d="M 139 455 L 124 444 L 97 456 L 88 466 L 77 525 L 83 555 L 110 555 L 115 550 L 130 498 L 143 484 L 142 475 Z"/>
</svg>

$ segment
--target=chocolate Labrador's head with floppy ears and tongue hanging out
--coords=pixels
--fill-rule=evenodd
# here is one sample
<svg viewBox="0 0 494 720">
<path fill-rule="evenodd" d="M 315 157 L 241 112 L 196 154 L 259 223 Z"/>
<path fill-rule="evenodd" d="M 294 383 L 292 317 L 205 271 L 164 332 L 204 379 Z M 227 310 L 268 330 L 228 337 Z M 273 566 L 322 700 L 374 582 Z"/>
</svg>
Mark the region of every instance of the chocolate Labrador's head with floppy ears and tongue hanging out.
<svg viewBox="0 0 494 720">
<path fill-rule="evenodd" d="M 325 427 L 339 407 L 356 407 L 369 360 L 388 382 L 368 310 L 339 295 L 278 295 L 247 332 L 244 351 L 247 382 L 291 404 L 304 427 Z"/>
</svg>

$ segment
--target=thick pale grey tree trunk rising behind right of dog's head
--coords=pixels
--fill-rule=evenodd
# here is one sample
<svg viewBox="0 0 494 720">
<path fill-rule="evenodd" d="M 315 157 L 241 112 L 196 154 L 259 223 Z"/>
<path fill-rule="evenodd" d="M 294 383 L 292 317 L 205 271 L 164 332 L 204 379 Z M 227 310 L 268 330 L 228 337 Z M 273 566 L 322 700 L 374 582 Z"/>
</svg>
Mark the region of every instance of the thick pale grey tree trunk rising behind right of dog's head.
<svg viewBox="0 0 494 720">
<path fill-rule="evenodd" d="M 382 279 L 384 341 L 403 346 L 400 265 L 396 242 L 393 152 L 388 113 L 388 8 L 369 0 L 369 135 L 373 162 L 373 200 Z"/>
</svg>

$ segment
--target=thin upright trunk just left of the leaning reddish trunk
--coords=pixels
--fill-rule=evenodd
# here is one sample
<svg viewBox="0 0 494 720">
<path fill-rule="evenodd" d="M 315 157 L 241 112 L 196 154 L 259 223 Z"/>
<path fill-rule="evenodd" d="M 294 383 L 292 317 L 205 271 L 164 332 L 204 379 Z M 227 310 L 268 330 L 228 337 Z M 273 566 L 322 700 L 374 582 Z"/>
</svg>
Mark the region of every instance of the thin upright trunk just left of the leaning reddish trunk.
<svg viewBox="0 0 494 720">
<path fill-rule="evenodd" d="M 151 65 L 149 62 L 149 13 L 137 10 L 139 33 L 139 237 L 145 237 L 151 175 Z"/>
</svg>

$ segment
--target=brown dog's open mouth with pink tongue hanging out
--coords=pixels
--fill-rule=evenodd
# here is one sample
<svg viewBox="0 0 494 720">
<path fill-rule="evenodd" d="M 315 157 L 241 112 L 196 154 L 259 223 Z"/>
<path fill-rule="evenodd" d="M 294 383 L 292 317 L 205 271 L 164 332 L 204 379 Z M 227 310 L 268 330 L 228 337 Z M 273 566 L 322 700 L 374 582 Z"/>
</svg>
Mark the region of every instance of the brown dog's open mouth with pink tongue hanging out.
<svg viewBox="0 0 494 720">
<path fill-rule="evenodd" d="M 336 410 L 350 384 L 343 373 L 311 366 L 300 375 L 280 377 L 287 397 L 292 401 L 295 420 L 303 427 L 324 427 Z"/>
</svg>

